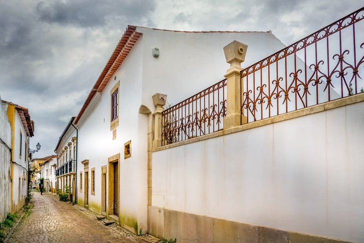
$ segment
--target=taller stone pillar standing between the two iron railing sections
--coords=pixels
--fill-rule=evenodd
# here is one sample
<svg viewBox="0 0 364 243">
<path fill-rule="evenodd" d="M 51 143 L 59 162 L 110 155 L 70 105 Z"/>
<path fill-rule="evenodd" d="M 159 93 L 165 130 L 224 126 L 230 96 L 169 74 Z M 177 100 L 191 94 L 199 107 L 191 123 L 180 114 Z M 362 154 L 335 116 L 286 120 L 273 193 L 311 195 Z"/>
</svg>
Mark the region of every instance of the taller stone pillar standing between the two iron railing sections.
<svg viewBox="0 0 364 243">
<path fill-rule="evenodd" d="M 224 47 L 226 62 L 230 63 L 224 77 L 227 79 L 226 116 L 224 129 L 240 126 L 247 123 L 246 116 L 241 116 L 240 92 L 243 92 L 240 81 L 240 63 L 244 61 L 248 46 L 236 40 Z M 241 120 L 240 120 L 241 119 Z"/>
</svg>

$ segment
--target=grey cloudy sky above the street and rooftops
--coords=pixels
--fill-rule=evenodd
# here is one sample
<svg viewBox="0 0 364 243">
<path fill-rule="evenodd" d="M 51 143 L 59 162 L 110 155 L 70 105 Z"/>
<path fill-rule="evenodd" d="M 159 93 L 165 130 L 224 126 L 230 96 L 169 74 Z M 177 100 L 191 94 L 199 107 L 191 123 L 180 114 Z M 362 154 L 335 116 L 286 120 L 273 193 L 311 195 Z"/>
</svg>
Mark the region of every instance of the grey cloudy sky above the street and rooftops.
<svg viewBox="0 0 364 243">
<path fill-rule="evenodd" d="M 0 0 L 0 96 L 29 108 L 53 154 L 128 24 L 176 30 L 272 30 L 285 44 L 363 0 Z M 221 74 L 223 75 L 223 74 Z"/>
</svg>

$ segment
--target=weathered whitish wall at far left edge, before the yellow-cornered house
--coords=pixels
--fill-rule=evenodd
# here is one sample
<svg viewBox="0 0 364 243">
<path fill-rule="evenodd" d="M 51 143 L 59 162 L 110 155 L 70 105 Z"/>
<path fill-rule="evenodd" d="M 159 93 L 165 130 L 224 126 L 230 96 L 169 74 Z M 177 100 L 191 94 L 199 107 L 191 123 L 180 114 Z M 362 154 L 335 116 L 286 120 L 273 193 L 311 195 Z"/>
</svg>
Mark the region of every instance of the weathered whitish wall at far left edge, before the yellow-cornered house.
<svg viewBox="0 0 364 243">
<path fill-rule="evenodd" d="M 0 222 L 10 212 L 10 151 L 11 128 L 6 114 L 7 104 L 0 97 Z M 5 144 L 3 144 L 5 143 Z"/>
</svg>

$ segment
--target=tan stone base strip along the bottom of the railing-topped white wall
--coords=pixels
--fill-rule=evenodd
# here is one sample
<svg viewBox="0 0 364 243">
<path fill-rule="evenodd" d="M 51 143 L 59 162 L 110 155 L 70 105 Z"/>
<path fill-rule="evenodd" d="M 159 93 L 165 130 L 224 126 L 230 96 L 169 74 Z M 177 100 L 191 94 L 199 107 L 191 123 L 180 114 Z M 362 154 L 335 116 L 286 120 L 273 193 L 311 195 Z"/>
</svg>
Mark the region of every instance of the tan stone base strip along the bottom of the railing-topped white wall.
<svg viewBox="0 0 364 243">
<path fill-rule="evenodd" d="M 178 243 L 348 243 L 148 206 L 148 233 Z"/>
</svg>

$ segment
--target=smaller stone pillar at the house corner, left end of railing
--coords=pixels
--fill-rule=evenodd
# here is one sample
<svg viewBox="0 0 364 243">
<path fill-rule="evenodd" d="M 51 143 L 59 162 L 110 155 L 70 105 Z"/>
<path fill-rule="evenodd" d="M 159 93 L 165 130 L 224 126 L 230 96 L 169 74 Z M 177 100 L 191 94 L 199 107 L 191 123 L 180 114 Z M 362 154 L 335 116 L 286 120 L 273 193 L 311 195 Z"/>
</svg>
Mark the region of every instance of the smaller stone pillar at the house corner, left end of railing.
<svg viewBox="0 0 364 243">
<path fill-rule="evenodd" d="M 162 111 L 163 106 L 166 104 L 167 94 L 156 93 L 153 95 L 153 103 L 156 106 L 154 111 L 154 140 L 153 148 L 162 146 Z"/>
</svg>

